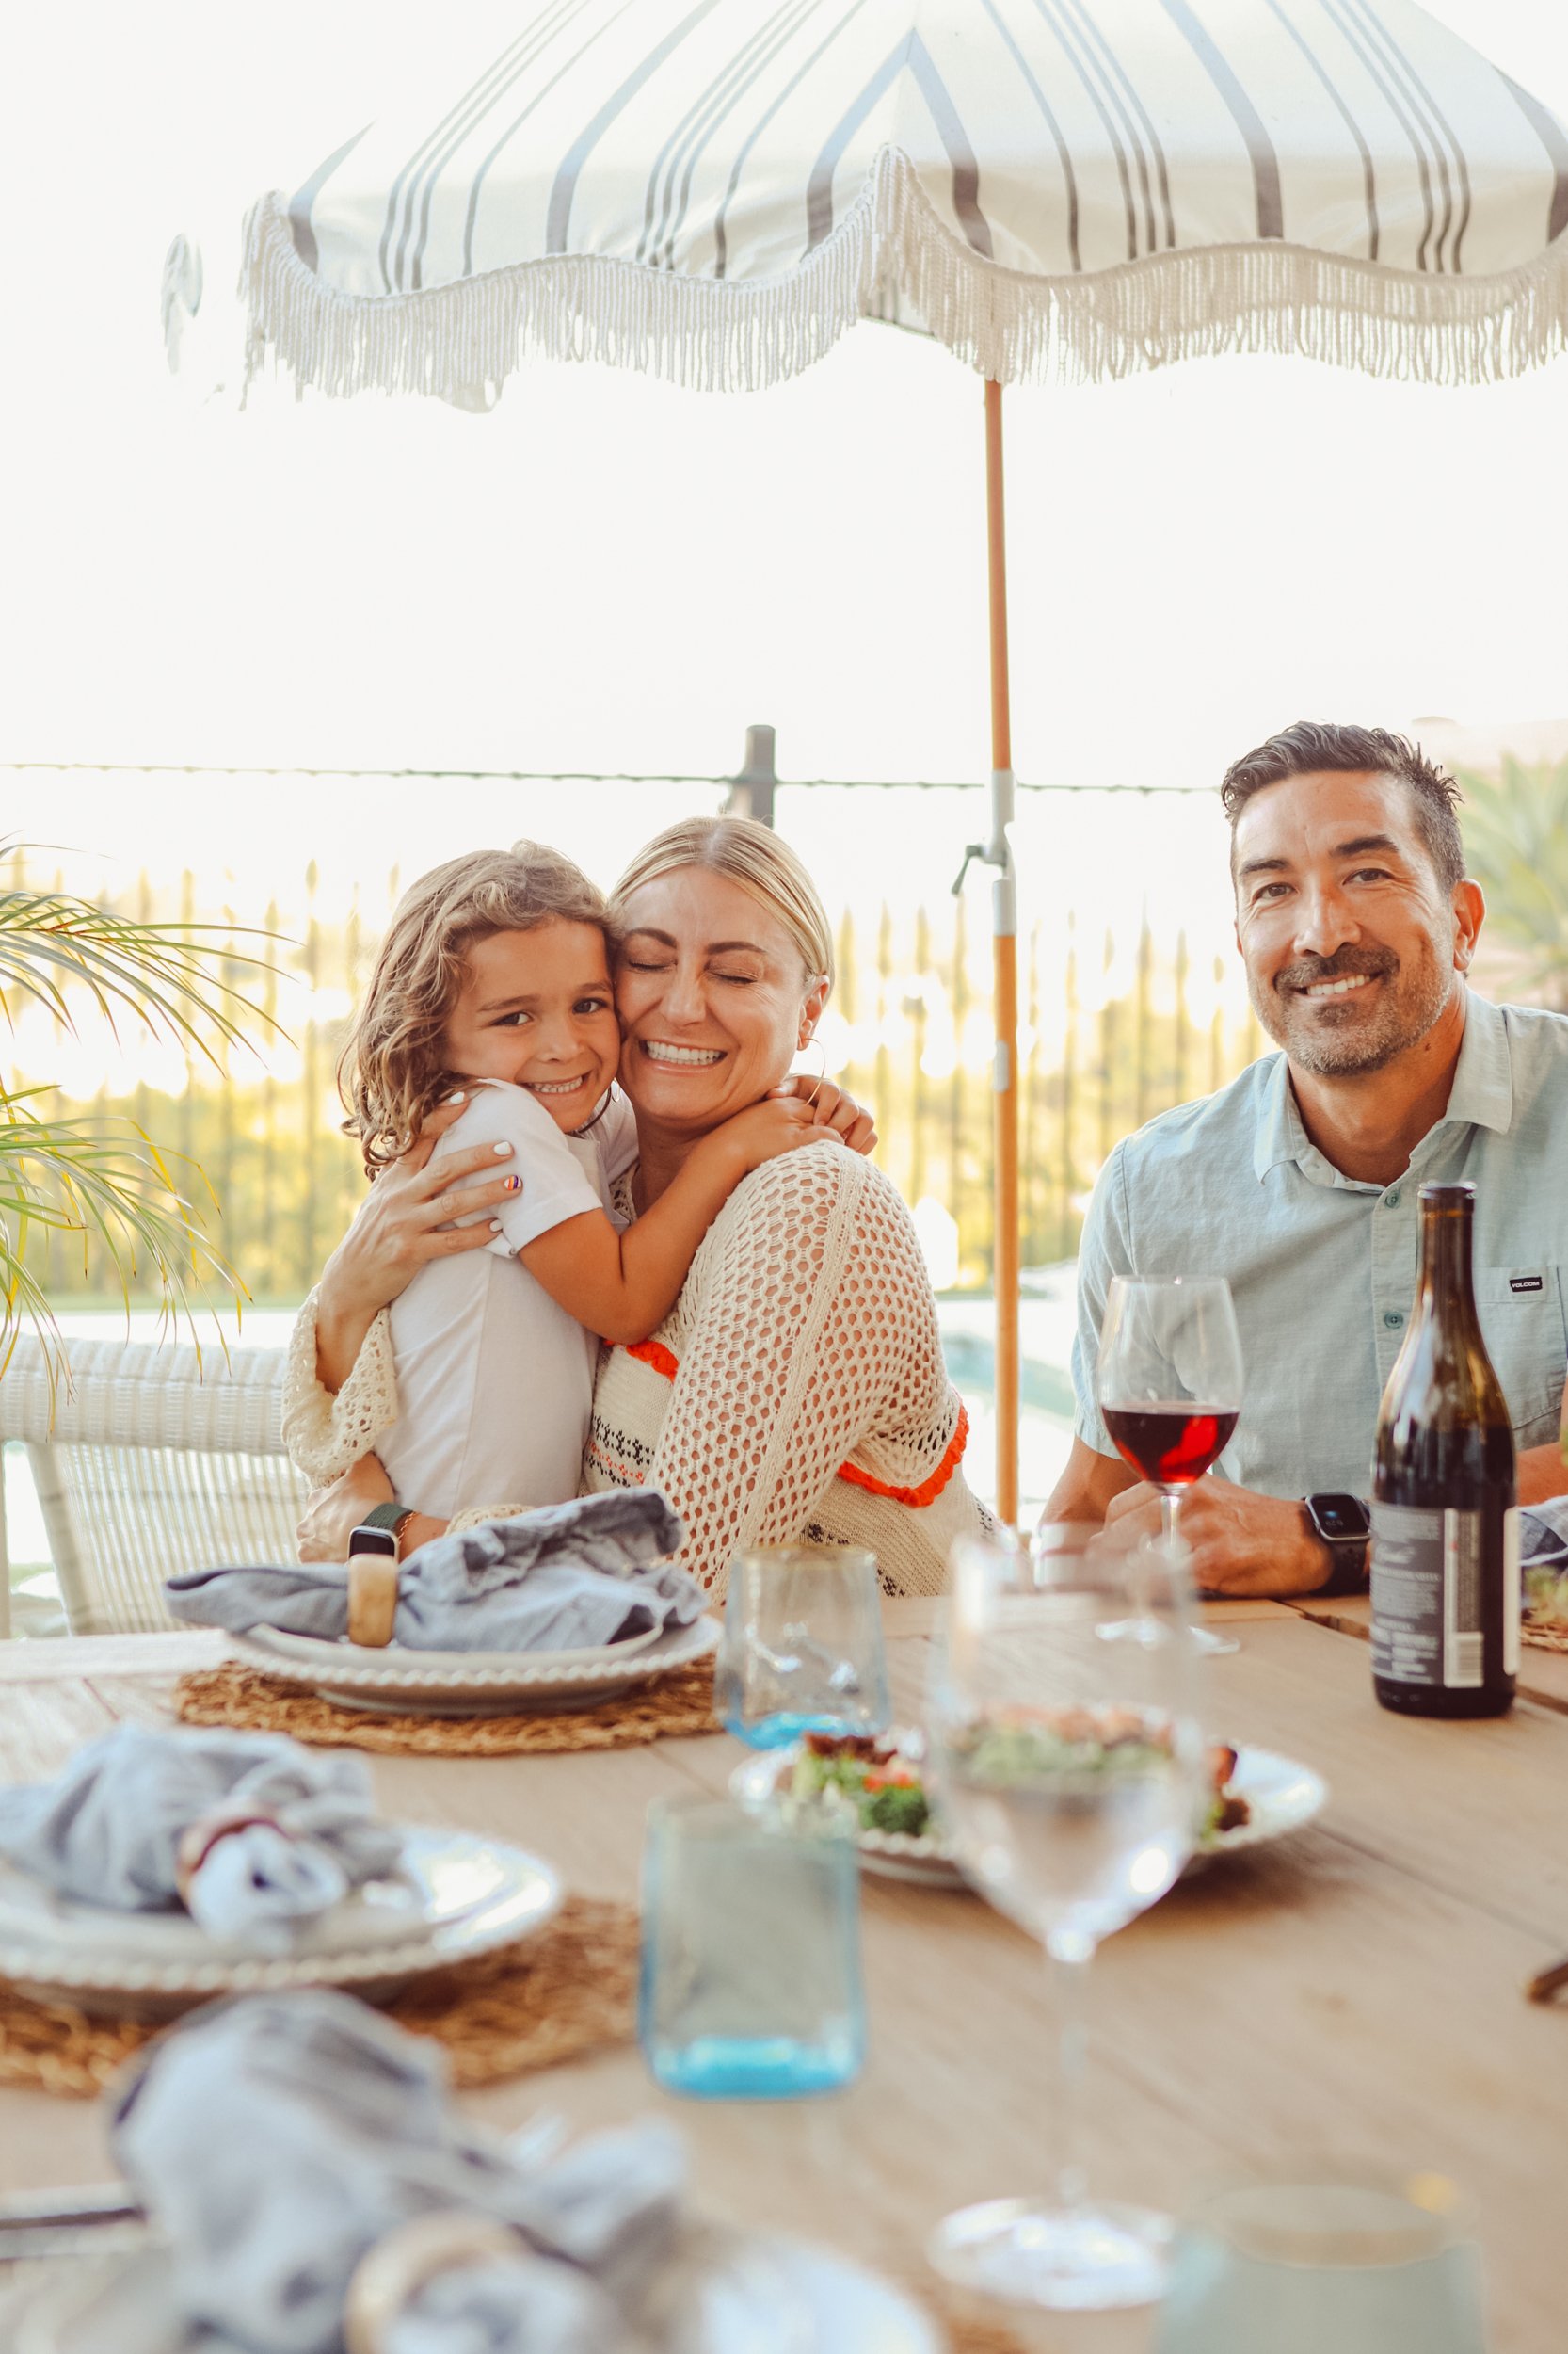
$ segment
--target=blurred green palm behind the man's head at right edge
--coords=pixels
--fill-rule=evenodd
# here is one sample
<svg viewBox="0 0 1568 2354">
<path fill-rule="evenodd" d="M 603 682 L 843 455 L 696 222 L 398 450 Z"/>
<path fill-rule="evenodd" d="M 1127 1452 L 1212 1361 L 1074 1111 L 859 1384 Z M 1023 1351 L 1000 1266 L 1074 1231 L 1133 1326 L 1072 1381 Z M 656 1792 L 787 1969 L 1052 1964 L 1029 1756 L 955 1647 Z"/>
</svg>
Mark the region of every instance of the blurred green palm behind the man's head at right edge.
<svg viewBox="0 0 1568 2354">
<path fill-rule="evenodd" d="M 1504 753 L 1500 777 L 1455 774 L 1488 923 L 1523 951 L 1521 984 L 1568 1012 L 1568 760 L 1526 767 Z"/>
</svg>

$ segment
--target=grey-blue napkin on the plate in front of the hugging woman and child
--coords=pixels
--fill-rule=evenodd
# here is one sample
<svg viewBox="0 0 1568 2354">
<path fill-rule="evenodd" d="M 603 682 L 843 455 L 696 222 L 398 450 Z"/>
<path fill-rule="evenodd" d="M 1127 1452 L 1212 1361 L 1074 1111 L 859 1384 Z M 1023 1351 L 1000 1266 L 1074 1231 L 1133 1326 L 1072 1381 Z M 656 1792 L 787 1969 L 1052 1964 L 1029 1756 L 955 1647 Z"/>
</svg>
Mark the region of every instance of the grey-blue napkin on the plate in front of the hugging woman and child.
<svg viewBox="0 0 1568 2354">
<path fill-rule="evenodd" d="M 690 1627 L 706 1605 L 669 1561 L 685 1530 L 657 1488 L 614 1488 L 433 1537 L 398 1575 L 393 1638 L 407 1650 L 584 1650 L 652 1627 Z M 348 1570 L 186 1570 L 165 1582 L 174 1617 L 245 1634 L 348 1634 Z"/>
</svg>

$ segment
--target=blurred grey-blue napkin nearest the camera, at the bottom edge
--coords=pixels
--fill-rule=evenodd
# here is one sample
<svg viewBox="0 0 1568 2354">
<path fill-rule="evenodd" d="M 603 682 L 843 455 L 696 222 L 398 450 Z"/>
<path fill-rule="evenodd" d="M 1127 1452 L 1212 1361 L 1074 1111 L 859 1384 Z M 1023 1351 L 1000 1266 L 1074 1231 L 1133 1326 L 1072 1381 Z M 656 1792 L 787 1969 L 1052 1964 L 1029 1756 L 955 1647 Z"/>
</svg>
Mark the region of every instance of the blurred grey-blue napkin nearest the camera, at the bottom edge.
<svg viewBox="0 0 1568 2354">
<path fill-rule="evenodd" d="M 388 2354 L 619 2354 L 622 2300 L 685 2189 L 662 2123 L 509 2152 L 447 2107 L 436 2043 L 330 1991 L 195 2013 L 120 2093 L 111 2140 L 172 2246 L 179 2319 L 245 2354 L 339 2354 L 360 2257 L 440 2208 L 511 2225 L 516 2260 L 438 2274 Z"/>
</svg>

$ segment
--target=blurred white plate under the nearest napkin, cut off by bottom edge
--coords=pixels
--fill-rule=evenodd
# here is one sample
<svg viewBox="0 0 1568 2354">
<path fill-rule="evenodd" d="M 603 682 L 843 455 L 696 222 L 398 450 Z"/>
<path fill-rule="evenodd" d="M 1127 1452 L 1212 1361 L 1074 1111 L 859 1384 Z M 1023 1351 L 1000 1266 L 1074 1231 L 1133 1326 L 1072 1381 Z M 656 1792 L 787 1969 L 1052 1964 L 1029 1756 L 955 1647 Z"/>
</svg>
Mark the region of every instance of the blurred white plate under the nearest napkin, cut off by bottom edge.
<svg viewBox="0 0 1568 2354">
<path fill-rule="evenodd" d="M 704 2305 L 704 2328 L 683 2354 L 939 2354 L 935 2326 L 890 2281 L 829 2248 L 763 2234 L 737 2236 L 765 2295 L 742 2302 L 749 2267 L 723 2267 Z M 231 2338 L 186 2330 L 172 2316 L 170 2255 L 146 2248 L 111 2257 L 89 2276 L 49 2283 L 14 2323 L 12 2354 L 233 2354 Z M 647 2354 L 669 2340 L 647 2338 Z"/>
</svg>

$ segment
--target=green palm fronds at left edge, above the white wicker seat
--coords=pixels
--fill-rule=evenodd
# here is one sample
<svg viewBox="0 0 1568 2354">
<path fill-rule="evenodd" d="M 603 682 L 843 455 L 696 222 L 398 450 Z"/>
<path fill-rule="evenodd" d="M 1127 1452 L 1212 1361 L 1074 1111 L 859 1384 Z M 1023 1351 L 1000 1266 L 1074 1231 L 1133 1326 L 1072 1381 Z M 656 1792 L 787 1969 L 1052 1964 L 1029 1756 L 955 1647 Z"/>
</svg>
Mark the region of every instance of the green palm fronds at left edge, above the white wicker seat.
<svg viewBox="0 0 1568 2354">
<path fill-rule="evenodd" d="M 26 845 L 5 845 L 14 862 L 0 890 L 0 1017 L 14 1029 L 24 1005 L 42 1005 L 78 1033 L 78 1010 L 92 1010 L 118 1036 L 146 1024 L 217 1066 L 214 1040 L 247 1045 L 242 1022 L 266 1015 L 217 970 L 264 960 L 238 956 L 214 925 L 132 923 L 61 890 L 19 880 Z M 205 932 L 214 932 L 205 939 Z M 0 1370 L 31 1323 L 49 1370 L 61 1365 L 59 1325 L 38 1276 L 38 1238 L 49 1231 L 99 1255 L 129 1304 L 132 1285 L 151 1285 L 165 1321 L 193 1323 L 195 1295 L 217 1283 L 242 1299 L 245 1285 L 207 1238 L 188 1198 L 210 1189 L 193 1163 L 160 1151 L 134 1121 L 52 1118 L 52 1088 L 0 1085 Z"/>
</svg>

